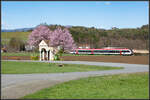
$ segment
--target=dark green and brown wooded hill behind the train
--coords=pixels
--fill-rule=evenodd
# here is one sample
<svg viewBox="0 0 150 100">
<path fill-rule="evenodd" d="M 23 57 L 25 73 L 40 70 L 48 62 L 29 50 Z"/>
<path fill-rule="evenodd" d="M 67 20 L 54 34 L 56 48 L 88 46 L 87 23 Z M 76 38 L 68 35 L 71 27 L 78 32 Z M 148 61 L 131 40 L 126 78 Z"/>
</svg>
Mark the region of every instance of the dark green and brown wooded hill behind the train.
<svg viewBox="0 0 150 100">
<path fill-rule="evenodd" d="M 56 26 L 51 25 L 50 29 Z M 110 30 L 96 29 L 94 27 L 87 28 L 82 26 L 72 26 L 68 28 L 72 34 L 76 44 L 90 44 L 92 48 L 101 48 L 105 46 L 120 46 L 132 49 L 149 49 L 149 28 L 143 25 L 140 28 Z"/>
</svg>

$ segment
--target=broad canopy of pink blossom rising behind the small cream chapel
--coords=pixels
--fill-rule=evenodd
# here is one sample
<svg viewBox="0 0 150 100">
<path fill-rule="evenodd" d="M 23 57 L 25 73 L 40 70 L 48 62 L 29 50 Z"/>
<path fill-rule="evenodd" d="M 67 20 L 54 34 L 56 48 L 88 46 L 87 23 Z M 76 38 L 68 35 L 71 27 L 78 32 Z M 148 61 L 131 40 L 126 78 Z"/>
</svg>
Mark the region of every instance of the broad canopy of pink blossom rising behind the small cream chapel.
<svg viewBox="0 0 150 100">
<path fill-rule="evenodd" d="M 54 31 L 51 31 L 47 26 L 39 25 L 29 35 L 28 43 L 37 47 L 41 40 L 49 40 L 49 45 L 62 46 L 65 51 L 76 48 L 72 35 L 67 28 L 57 27 Z"/>
</svg>

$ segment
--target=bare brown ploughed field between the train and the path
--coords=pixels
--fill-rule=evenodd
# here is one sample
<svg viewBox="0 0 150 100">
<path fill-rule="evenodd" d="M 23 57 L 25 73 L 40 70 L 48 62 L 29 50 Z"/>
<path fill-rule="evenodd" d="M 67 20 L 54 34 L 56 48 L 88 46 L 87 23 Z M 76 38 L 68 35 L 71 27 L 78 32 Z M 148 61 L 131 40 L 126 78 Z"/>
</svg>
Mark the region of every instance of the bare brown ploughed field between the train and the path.
<svg viewBox="0 0 150 100">
<path fill-rule="evenodd" d="M 149 64 L 149 56 L 63 56 L 64 61 L 96 61 Z M 29 56 L 2 56 L 2 60 L 31 60 Z"/>
</svg>

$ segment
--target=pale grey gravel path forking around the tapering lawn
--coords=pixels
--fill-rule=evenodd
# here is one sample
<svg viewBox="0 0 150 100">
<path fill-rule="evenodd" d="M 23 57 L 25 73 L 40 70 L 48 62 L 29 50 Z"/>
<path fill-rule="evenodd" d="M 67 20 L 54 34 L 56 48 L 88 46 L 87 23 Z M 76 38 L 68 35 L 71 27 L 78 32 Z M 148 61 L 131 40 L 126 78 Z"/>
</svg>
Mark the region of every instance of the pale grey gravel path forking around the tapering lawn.
<svg viewBox="0 0 150 100">
<path fill-rule="evenodd" d="M 17 61 L 17 60 L 9 60 Z M 22 60 L 23 62 L 39 62 Z M 20 60 L 19 60 L 20 62 Z M 47 61 L 41 61 L 47 62 Z M 124 64 L 124 63 L 104 63 L 104 62 L 86 62 L 86 61 L 51 61 L 50 63 L 65 64 L 86 64 L 98 66 L 124 67 L 119 70 L 90 71 L 90 72 L 68 72 L 53 74 L 2 74 L 2 99 L 17 99 L 27 94 L 36 92 L 42 88 L 47 88 L 55 84 L 75 80 L 89 76 L 102 76 L 120 73 L 148 72 L 149 65 Z"/>
</svg>

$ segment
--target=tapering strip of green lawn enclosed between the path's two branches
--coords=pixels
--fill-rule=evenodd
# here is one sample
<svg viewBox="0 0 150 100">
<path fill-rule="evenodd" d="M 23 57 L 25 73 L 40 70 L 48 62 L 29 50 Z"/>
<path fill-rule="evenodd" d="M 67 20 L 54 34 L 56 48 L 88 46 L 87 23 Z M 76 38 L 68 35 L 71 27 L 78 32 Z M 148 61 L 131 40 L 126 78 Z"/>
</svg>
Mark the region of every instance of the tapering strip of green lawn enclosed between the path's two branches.
<svg viewBox="0 0 150 100">
<path fill-rule="evenodd" d="M 29 74 L 29 73 L 64 73 L 64 72 L 86 72 L 97 70 L 122 69 L 123 67 L 104 67 L 93 65 L 64 64 L 58 67 L 56 63 L 44 62 L 1 62 L 2 74 Z"/>
</svg>

